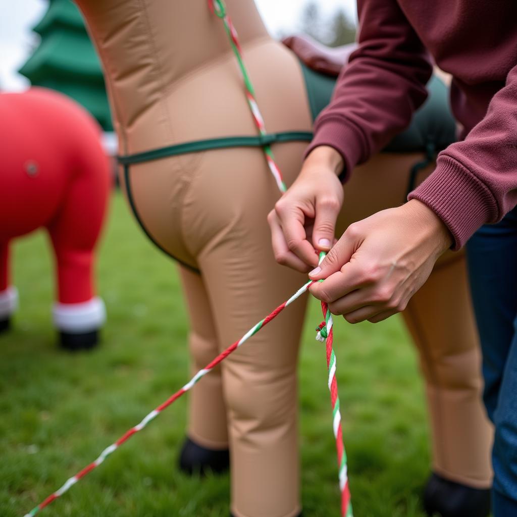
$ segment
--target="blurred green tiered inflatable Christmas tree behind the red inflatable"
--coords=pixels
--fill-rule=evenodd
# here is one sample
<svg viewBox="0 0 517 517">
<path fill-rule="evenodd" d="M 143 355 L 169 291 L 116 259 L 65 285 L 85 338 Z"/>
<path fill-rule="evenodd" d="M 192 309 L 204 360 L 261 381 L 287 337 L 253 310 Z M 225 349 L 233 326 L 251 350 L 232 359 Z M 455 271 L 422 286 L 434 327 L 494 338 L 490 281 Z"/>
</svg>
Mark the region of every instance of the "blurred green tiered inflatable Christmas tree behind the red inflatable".
<svg viewBox="0 0 517 517">
<path fill-rule="evenodd" d="M 101 65 L 79 9 L 71 0 L 50 0 L 33 30 L 41 41 L 20 73 L 35 86 L 72 97 L 113 131 Z"/>
</svg>

